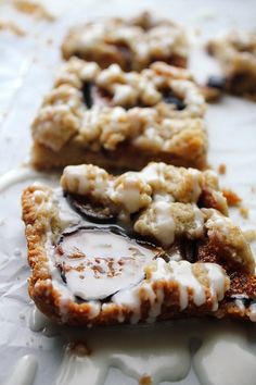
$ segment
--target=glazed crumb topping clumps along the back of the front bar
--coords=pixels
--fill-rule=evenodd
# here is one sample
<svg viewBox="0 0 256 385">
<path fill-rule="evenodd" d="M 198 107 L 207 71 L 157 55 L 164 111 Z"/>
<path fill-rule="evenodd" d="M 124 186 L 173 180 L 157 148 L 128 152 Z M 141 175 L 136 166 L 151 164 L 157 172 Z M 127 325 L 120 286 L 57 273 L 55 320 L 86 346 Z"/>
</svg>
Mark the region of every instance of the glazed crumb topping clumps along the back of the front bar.
<svg viewBox="0 0 256 385">
<path fill-rule="evenodd" d="M 113 176 L 82 164 L 65 167 L 61 184 L 72 195 L 110 208 L 120 220 L 130 218 L 136 233 L 156 239 L 165 248 L 177 237 L 203 239 L 207 234 L 209 241 L 218 239 L 226 245 L 221 258 L 254 270 L 242 232 L 225 216 L 227 202 L 213 171 L 150 163 L 141 172 Z"/>
</svg>

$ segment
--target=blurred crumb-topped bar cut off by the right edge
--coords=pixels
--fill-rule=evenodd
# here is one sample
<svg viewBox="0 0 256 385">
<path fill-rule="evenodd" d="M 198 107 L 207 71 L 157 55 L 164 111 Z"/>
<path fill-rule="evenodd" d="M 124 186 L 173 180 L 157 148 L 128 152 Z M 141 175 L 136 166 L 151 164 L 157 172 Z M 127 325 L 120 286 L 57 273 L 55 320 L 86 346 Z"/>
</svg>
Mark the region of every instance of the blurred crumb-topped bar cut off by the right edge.
<svg viewBox="0 0 256 385">
<path fill-rule="evenodd" d="M 256 97 L 256 33 L 232 32 L 213 40 L 208 52 L 219 61 L 223 88 L 231 94 Z"/>
</svg>

